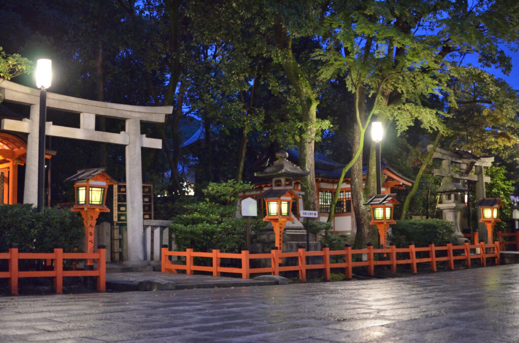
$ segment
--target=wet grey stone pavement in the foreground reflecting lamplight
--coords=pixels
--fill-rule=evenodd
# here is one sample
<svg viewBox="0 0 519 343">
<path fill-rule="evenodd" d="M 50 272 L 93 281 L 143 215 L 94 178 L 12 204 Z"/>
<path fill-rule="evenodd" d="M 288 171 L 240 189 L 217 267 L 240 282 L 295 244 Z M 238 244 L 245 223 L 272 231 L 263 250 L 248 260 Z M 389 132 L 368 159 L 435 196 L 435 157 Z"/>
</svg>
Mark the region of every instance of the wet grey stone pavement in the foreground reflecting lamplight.
<svg viewBox="0 0 519 343">
<path fill-rule="evenodd" d="M 517 342 L 519 265 L 262 287 L 0 297 L 0 342 Z"/>
</svg>

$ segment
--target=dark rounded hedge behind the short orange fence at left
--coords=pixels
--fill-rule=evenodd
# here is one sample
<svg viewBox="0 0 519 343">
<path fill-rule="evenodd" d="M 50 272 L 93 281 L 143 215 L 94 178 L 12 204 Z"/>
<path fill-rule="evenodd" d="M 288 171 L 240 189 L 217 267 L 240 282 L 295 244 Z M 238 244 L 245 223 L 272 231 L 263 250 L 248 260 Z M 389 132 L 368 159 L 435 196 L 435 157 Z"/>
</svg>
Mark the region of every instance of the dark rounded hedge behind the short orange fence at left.
<svg viewBox="0 0 519 343">
<path fill-rule="evenodd" d="M 0 251 L 16 244 L 20 252 L 73 252 L 83 250 L 84 238 L 83 220 L 69 209 L 45 207 L 37 212 L 30 204 L 0 206 Z"/>
</svg>

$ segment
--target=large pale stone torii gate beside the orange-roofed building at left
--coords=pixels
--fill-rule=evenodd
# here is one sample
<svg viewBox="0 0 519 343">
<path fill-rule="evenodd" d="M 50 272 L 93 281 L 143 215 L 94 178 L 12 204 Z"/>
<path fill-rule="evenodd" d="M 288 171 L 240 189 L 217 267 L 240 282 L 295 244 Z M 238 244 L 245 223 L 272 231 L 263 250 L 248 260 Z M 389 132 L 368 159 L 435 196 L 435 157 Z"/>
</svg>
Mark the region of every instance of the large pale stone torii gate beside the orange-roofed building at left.
<svg viewBox="0 0 519 343">
<path fill-rule="evenodd" d="M 38 185 L 38 125 L 39 90 L 25 87 L 7 80 L 0 80 L 0 101 L 29 105 L 30 118 L 23 120 L 2 120 L 3 131 L 29 134 L 25 164 L 25 187 L 23 202 L 37 203 Z M 47 93 L 47 108 L 79 114 L 80 127 L 53 125 L 47 122 L 48 136 L 92 140 L 126 146 L 127 223 L 128 260 L 145 260 L 141 148 L 161 149 L 162 140 L 141 135 L 141 121 L 163 123 L 172 106 L 146 107 L 104 103 L 87 99 Z M 104 116 L 125 120 L 126 129 L 120 133 L 95 130 L 95 117 Z"/>
</svg>

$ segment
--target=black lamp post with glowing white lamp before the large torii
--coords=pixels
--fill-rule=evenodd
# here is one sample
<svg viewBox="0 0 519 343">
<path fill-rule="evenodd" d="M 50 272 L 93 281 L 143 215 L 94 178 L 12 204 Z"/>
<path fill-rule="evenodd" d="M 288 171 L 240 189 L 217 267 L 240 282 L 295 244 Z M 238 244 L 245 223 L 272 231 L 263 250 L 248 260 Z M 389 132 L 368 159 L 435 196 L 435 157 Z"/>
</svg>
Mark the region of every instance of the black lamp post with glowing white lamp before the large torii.
<svg viewBox="0 0 519 343">
<path fill-rule="evenodd" d="M 47 117 L 47 91 L 52 80 L 52 61 L 40 59 L 36 62 L 36 87 L 39 93 L 38 130 L 38 212 L 42 210 L 45 189 L 45 122 Z"/>
</svg>

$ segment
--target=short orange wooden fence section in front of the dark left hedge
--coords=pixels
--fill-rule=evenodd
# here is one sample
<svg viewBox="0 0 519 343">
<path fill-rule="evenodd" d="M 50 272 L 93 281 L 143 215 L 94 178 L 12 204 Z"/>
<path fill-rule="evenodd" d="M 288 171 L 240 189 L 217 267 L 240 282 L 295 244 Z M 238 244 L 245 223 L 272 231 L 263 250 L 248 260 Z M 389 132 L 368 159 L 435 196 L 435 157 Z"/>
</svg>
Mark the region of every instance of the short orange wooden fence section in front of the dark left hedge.
<svg viewBox="0 0 519 343">
<path fill-rule="evenodd" d="M 94 259 L 98 260 L 97 270 L 63 270 L 64 259 Z M 97 290 L 106 290 L 106 249 L 99 247 L 98 252 L 63 252 L 63 249 L 54 249 L 54 252 L 18 252 L 18 248 L 9 248 L 9 252 L 0 253 L 0 260 L 9 260 L 9 271 L 0 271 L 0 278 L 9 278 L 11 294 L 18 294 L 19 278 L 54 278 L 54 289 L 56 293 L 63 293 L 63 277 L 66 276 L 97 276 Z M 54 260 L 53 270 L 20 271 L 18 262 L 20 260 Z"/>
</svg>

